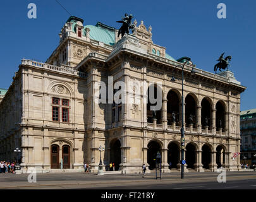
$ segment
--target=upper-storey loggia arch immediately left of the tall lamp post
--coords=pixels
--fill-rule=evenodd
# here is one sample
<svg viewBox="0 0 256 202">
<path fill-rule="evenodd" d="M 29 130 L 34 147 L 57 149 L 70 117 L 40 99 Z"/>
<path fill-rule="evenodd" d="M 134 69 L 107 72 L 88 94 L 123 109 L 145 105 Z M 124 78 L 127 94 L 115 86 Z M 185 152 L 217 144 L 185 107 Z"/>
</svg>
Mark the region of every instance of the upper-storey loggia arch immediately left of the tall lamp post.
<svg viewBox="0 0 256 202">
<path fill-rule="evenodd" d="M 172 114 L 175 114 L 175 122 L 180 122 L 180 98 L 176 92 L 170 90 L 167 95 L 167 120 L 168 125 L 171 125 L 173 122 Z M 179 124 L 177 124 L 179 125 Z"/>
</svg>

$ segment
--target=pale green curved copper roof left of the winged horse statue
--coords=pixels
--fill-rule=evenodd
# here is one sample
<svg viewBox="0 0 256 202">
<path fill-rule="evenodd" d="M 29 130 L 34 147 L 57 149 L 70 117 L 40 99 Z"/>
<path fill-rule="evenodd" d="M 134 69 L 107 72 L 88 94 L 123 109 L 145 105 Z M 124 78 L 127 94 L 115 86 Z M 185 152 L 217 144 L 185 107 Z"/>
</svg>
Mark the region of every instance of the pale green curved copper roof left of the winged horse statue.
<svg viewBox="0 0 256 202">
<path fill-rule="evenodd" d="M 90 29 L 90 39 L 97 40 L 99 42 L 103 42 L 107 45 L 114 45 L 115 43 L 115 34 L 114 29 L 111 30 L 110 28 L 103 27 L 97 23 L 96 26 L 93 25 L 86 25 L 83 28 L 83 35 L 86 35 L 85 28 Z"/>
</svg>

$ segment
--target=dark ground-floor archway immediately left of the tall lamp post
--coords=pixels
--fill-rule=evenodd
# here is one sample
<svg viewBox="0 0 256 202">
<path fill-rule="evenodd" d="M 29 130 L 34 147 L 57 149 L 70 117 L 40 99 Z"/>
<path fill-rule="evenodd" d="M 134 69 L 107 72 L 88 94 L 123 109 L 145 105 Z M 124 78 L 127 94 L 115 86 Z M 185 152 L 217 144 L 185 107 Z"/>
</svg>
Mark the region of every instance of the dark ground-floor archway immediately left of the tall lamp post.
<svg viewBox="0 0 256 202">
<path fill-rule="evenodd" d="M 168 163 L 171 162 L 171 167 L 169 167 L 169 169 L 178 169 L 177 164 L 180 162 L 180 148 L 177 143 L 169 143 L 167 161 Z"/>
</svg>

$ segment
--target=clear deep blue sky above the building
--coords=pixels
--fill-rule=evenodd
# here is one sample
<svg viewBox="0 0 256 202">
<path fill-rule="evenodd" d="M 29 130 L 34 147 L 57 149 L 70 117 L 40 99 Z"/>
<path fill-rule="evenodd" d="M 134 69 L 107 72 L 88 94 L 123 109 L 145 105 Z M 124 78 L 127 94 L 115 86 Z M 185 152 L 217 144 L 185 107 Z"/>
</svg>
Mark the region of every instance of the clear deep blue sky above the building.
<svg viewBox="0 0 256 202">
<path fill-rule="evenodd" d="M 86 1 L 58 0 L 84 25 L 97 21 L 119 28 L 125 13 L 152 26 L 152 40 L 178 59 L 192 58 L 197 68 L 213 73 L 224 51 L 232 56 L 231 70 L 247 90 L 241 110 L 256 108 L 256 1 L 169 0 Z M 28 4 L 37 5 L 37 19 L 27 17 Z M 225 3 L 227 18 L 217 18 L 217 4 Z M 55 0 L 1 1 L 0 88 L 8 88 L 23 57 L 46 61 L 58 46 L 58 33 L 70 15 Z"/>
</svg>

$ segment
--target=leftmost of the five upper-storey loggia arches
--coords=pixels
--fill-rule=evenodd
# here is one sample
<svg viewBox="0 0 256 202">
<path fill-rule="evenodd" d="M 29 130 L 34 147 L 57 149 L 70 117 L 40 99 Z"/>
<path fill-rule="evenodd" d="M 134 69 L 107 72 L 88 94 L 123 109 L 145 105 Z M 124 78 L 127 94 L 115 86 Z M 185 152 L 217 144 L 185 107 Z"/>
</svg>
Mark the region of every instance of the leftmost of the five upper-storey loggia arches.
<svg viewBox="0 0 256 202">
<path fill-rule="evenodd" d="M 154 95 L 151 95 L 150 93 L 151 90 L 154 88 Z M 147 122 L 152 123 L 153 122 L 153 114 L 152 114 L 152 108 L 154 107 L 158 107 L 159 103 L 155 101 L 155 103 L 151 103 L 150 99 L 160 99 L 161 98 L 161 102 L 162 102 L 162 90 L 161 87 L 157 86 L 157 85 L 150 85 L 149 88 L 147 89 Z M 155 118 L 157 121 L 157 124 L 162 124 L 162 103 L 161 103 L 161 109 L 159 110 L 155 110 Z"/>
</svg>

